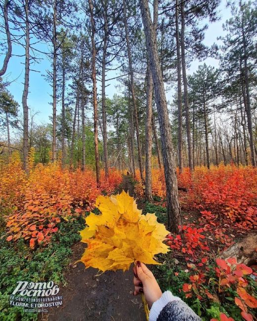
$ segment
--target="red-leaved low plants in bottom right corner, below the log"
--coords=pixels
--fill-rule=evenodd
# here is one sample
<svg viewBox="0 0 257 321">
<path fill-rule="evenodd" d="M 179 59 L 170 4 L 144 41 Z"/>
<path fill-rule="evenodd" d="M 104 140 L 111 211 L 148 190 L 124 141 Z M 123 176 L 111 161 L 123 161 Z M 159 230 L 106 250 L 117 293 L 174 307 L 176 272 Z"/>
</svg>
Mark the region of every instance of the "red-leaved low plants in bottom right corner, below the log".
<svg viewBox="0 0 257 321">
<path fill-rule="evenodd" d="M 221 304 L 223 300 L 233 301 L 240 308 L 244 320 L 254 320 L 253 309 L 257 308 L 257 299 L 252 295 L 254 286 L 250 275 L 257 276 L 257 273 L 245 264 L 238 264 L 236 258 L 229 258 L 226 261 L 217 258 L 215 263 L 215 273 L 212 277 L 210 277 L 210 267 L 206 266 L 206 271 L 203 273 L 194 264 L 188 264 L 194 274 L 189 278 L 190 283 L 184 283 L 182 286 L 185 297 L 196 296 L 200 301 L 208 299 Z M 208 289 L 210 287 L 212 292 Z M 233 318 L 223 313 L 219 318 L 221 321 L 234 321 Z M 212 319 L 211 321 L 218 320 Z"/>
</svg>

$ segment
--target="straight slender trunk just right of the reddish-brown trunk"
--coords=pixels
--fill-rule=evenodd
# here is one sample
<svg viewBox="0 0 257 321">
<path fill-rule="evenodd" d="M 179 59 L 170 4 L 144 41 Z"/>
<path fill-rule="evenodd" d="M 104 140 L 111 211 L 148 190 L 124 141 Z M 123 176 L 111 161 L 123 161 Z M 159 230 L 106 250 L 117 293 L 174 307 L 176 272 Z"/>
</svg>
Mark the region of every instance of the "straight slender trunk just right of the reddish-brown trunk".
<svg viewBox="0 0 257 321">
<path fill-rule="evenodd" d="M 104 10 L 104 42 L 103 42 L 103 59 L 102 59 L 102 118 L 103 118 L 103 153 L 104 153 L 104 169 L 105 177 L 108 176 L 108 149 L 107 149 L 107 129 L 106 129 L 106 106 L 105 106 L 105 64 L 106 64 L 106 50 L 107 50 L 107 12 Z"/>
</svg>

